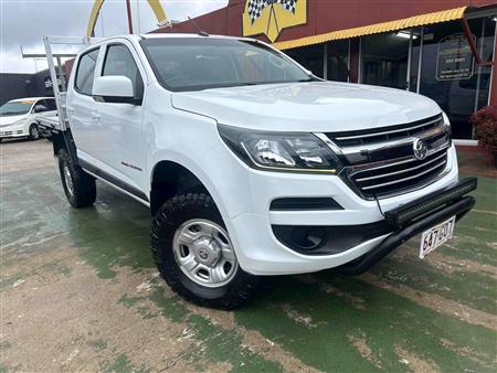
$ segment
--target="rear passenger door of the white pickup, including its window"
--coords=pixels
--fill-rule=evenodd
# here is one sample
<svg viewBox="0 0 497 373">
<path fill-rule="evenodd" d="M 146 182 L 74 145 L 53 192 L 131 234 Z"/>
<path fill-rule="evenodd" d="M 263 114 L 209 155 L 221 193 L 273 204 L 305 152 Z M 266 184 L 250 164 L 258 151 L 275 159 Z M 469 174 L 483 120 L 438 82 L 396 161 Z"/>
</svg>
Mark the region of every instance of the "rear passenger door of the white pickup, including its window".
<svg viewBox="0 0 497 373">
<path fill-rule="evenodd" d="M 105 151 L 98 140 L 102 124 L 92 96 L 99 50 L 97 46 L 80 56 L 72 89 L 67 93 L 67 115 L 78 157 L 87 161 L 98 159 Z"/>
</svg>

